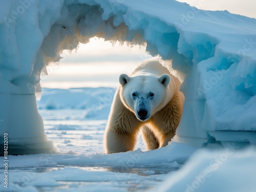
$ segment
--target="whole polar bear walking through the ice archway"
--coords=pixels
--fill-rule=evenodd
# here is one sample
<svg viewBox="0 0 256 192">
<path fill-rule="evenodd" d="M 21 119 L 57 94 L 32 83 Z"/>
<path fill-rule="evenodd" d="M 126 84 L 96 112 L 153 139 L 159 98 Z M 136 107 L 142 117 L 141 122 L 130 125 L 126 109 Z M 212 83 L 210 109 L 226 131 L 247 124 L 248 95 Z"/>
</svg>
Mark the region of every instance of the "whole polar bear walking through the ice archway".
<svg viewBox="0 0 256 192">
<path fill-rule="evenodd" d="M 130 76 L 121 74 L 119 83 L 105 130 L 106 154 L 133 151 L 140 129 L 147 150 L 166 146 L 183 109 L 179 79 L 153 58 Z"/>
</svg>

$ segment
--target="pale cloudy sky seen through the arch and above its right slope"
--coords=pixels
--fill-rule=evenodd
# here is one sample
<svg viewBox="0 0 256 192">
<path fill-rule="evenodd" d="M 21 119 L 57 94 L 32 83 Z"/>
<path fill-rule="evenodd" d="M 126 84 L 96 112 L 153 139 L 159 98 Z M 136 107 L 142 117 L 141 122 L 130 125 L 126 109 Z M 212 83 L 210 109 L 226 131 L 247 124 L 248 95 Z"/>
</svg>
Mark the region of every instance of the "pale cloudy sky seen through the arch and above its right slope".
<svg viewBox="0 0 256 192">
<path fill-rule="evenodd" d="M 179 0 L 204 10 L 227 10 L 256 18 L 255 0 Z M 77 52 L 64 52 L 59 65 L 48 67 L 49 75 L 41 77 L 41 86 L 47 88 L 117 87 L 118 76 L 129 74 L 132 68 L 146 58 L 145 47 L 129 48 L 118 43 L 112 46 L 104 39 L 92 38 L 80 44 Z M 121 64 L 121 65 L 120 65 Z"/>
</svg>

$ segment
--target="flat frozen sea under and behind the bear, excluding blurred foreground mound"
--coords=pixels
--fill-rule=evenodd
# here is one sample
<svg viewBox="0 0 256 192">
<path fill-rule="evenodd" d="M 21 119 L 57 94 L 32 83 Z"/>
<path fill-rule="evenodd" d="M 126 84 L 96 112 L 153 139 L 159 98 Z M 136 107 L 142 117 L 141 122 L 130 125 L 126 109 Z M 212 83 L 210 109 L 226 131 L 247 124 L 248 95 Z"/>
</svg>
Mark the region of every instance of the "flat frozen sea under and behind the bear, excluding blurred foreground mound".
<svg viewBox="0 0 256 192">
<path fill-rule="evenodd" d="M 140 136 L 135 152 L 104 154 L 114 93 L 112 88 L 43 89 L 37 104 L 55 152 L 9 156 L 9 186 L 1 184 L 1 191 L 145 191 L 174 173 L 193 150 L 178 163 L 161 149 L 144 153 Z"/>
</svg>

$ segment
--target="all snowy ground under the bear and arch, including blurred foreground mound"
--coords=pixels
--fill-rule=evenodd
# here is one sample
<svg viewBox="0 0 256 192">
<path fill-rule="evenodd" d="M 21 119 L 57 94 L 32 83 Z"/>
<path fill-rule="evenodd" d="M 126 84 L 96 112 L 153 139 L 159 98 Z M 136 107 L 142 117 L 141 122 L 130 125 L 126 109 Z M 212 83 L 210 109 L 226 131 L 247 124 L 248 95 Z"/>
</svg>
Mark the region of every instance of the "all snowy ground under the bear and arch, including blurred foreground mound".
<svg viewBox="0 0 256 192">
<path fill-rule="evenodd" d="M 235 143 L 224 150 L 196 151 L 172 142 L 146 152 L 140 137 L 134 152 L 104 154 L 108 113 L 98 111 L 101 119 L 97 115 L 85 118 L 90 105 L 79 107 L 90 95 L 94 95 L 91 104 L 98 104 L 102 93 L 110 89 L 43 89 L 38 108 L 58 152 L 9 155 L 9 186 L 1 183 L 0 191 L 254 191 L 256 149 L 237 151 L 240 146 Z M 67 100 L 58 99 L 61 94 Z M 45 109 L 50 98 L 61 109 Z M 3 163 L 0 170 L 3 179 Z"/>
</svg>

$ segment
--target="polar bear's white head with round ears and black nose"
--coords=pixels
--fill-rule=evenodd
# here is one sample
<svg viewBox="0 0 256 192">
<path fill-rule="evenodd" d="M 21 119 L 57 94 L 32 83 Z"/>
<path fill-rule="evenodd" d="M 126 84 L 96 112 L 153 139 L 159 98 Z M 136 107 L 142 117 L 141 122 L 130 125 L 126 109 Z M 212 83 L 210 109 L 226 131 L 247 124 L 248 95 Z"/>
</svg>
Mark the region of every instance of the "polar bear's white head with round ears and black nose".
<svg viewBox="0 0 256 192">
<path fill-rule="evenodd" d="M 121 74 L 119 83 L 122 87 L 120 91 L 121 101 L 141 121 L 150 119 L 172 97 L 168 87 L 170 83 L 168 74 L 163 74 L 160 77 L 150 73 L 133 77 Z"/>
</svg>

